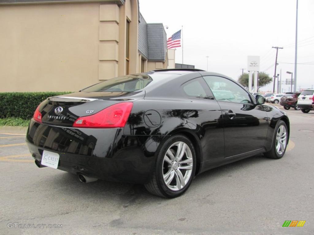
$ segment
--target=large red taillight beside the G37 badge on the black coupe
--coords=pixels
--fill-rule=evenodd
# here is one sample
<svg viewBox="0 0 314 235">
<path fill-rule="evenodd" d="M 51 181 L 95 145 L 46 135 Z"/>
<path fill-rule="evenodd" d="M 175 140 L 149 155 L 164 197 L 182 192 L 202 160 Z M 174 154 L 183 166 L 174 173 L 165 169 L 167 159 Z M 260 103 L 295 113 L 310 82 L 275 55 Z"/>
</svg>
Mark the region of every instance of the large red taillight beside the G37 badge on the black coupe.
<svg viewBox="0 0 314 235">
<path fill-rule="evenodd" d="M 117 128 L 124 127 L 131 113 L 133 102 L 111 105 L 93 115 L 80 117 L 73 123 L 78 128 Z"/>
</svg>

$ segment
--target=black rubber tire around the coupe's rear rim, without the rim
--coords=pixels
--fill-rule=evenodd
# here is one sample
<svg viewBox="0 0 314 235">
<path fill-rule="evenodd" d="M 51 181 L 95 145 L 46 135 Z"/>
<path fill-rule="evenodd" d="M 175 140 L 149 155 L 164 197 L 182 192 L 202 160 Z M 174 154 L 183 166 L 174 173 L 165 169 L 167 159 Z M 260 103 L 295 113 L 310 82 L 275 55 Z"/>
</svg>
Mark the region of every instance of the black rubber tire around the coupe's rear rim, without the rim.
<svg viewBox="0 0 314 235">
<path fill-rule="evenodd" d="M 185 184 L 185 186 L 183 186 L 181 189 L 179 189 L 177 191 L 171 190 L 166 185 L 165 180 L 163 178 L 164 171 L 166 170 L 165 165 L 164 165 L 165 154 L 166 154 L 167 150 L 171 147 L 171 145 L 176 143 L 176 142 L 184 142 L 185 144 L 187 144 L 187 146 L 190 148 L 191 153 L 192 153 L 192 173 L 191 173 L 190 178 L 188 179 L 187 183 Z M 184 155 L 184 157 L 186 157 L 186 154 Z M 171 167 L 169 169 L 174 171 Z M 184 135 L 171 136 L 170 138 L 166 139 L 163 143 L 160 144 L 159 151 L 156 152 L 156 163 L 154 166 L 152 178 L 150 179 L 149 183 L 145 185 L 145 188 L 150 193 L 157 195 L 157 196 L 167 197 L 167 198 L 178 197 L 178 196 L 182 195 L 185 191 L 187 191 L 187 189 L 191 185 L 192 180 L 193 180 L 194 175 L 195 175 L 195 169 L 196 169 L 196 153 L 195 153 L 195 149 L 194 149 L 191 141 L 187 137 L 185 137 Z M 175 171 L 177 171 L 177 170 L 175 170 Z M 175 177 L 173 179 L 176 180 Z"/>
</svg>

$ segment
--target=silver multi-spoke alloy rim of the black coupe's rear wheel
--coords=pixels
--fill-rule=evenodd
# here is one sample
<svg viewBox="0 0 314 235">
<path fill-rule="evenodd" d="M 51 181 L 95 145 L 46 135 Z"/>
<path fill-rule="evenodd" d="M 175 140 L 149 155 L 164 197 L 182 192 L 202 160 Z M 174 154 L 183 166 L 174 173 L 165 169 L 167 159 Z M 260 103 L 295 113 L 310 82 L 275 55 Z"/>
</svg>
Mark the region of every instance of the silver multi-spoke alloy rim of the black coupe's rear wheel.
<svg viewBox="0 0 314 235">
<path fill-rule="evenodd" d="M 189 146 L 178 141 L 172 144 L 163 160 L 162 174 L 167 187 L 178 191 L 187 184 L 192 175 L 193 156 Z"/>
</svg>

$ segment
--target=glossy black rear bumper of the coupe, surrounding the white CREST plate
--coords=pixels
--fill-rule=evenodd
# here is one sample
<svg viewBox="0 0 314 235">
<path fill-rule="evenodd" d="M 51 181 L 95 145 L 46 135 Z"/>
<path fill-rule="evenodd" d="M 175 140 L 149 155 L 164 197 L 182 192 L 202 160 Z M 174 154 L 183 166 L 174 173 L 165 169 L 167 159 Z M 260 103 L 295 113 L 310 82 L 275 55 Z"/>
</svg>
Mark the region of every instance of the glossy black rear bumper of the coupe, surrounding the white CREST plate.
<svg viewBox="0 0 314 235">
<path fill-rule="evenodd" d="M 123 135 L 121 128 L 65 128 L 33 120 L 26 135 L 30 153 L 40 162 L 48 150 L 59 154 L 59 170 L 139 184 L 151 177 L 158 146 L 153 139 Z"/>
</svg>

